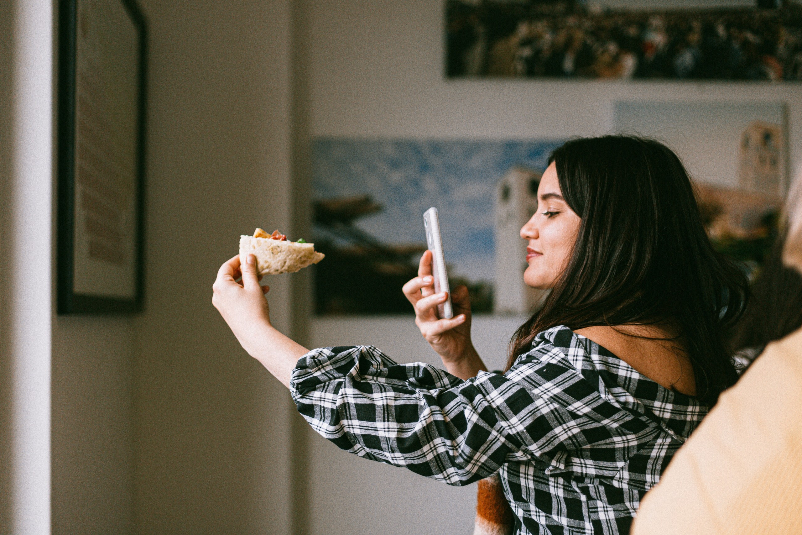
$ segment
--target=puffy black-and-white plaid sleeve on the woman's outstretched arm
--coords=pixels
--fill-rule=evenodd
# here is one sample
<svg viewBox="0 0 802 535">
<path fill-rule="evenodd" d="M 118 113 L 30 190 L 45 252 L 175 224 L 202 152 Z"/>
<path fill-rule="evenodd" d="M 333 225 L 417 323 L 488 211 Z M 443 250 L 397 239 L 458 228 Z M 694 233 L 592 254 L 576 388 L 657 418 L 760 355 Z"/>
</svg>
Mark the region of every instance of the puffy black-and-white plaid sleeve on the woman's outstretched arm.
<svg viewBox="0 0 802 535">
<path fill-rule="evenodd" d="M 372 346 L 310 351 L 293 371 L 298 412 L 338 448 L 452 485 L 531 460 L 537 402 L 501 375 L 458 379 Z"/>
</svg>

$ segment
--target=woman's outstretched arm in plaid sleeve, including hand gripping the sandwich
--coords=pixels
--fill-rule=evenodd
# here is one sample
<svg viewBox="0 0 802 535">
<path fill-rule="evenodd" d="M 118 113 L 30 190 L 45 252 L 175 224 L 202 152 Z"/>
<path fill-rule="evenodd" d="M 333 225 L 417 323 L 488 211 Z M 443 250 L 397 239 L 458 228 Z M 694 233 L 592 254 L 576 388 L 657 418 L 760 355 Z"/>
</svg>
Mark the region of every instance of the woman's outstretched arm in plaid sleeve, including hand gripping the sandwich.
<svg viewBox="0 0 802 535">
<path fill-rule="evenodd" d="M 425 364 L 399 365 L 373 347 L 307 351 L 270 324 L 268 288 L 259 286 L 254 260 L 225 262 L 212 302 L 245 351 L 290 387 L 298 411 L 322 436 L 449 484 L 529 458 L 525 425 L 535 402 L 524 388 L 495 374 L 468 382 Z M 508 387 L 495 391 L 502 383 Z"/>
</svg>

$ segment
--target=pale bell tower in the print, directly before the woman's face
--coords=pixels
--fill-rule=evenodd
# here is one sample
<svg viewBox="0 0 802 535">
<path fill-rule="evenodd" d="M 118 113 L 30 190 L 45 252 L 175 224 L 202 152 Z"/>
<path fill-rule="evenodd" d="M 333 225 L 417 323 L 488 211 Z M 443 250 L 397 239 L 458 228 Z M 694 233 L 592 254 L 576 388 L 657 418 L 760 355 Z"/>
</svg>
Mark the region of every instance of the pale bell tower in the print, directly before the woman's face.
<svg viewBox="0 0 802 535">
<path fill-rule="evenodd" d="M 544 292 L 524 284 L 526 241 L 520 228 L 537 210 L 537 186 L 542 172 L 524 167 L 510 168 L 496 187 L 496 282 L 493 311 L 496 314 L 526 314 L 541 301 Z"/>
</svg>

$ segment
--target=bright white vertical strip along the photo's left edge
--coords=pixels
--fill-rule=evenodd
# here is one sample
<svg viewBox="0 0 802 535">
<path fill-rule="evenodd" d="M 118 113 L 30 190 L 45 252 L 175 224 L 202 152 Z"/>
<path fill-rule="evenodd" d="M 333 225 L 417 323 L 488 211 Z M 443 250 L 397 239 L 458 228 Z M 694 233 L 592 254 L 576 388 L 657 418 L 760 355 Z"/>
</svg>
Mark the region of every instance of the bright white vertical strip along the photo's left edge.
<svg viewBox="0 0 802 535">
<path fill-rule="evenodd" d="M 51 528 L 51 2 L 4 0 L 0 532 Z"/>
</svg>

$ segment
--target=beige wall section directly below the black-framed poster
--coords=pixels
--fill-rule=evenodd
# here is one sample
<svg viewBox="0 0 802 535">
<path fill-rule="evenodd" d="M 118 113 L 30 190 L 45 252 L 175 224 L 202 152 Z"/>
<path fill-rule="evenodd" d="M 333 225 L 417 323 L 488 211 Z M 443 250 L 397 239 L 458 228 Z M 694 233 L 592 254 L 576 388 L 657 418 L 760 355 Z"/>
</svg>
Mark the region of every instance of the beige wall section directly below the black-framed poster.
<svg viewBox="0 0 802 535">
<path fill-rule="evenodd" d="M 133 320 L 53 322 L 53 533 L 132 533 Z"/>
</svg>

